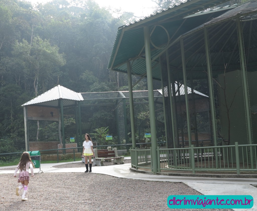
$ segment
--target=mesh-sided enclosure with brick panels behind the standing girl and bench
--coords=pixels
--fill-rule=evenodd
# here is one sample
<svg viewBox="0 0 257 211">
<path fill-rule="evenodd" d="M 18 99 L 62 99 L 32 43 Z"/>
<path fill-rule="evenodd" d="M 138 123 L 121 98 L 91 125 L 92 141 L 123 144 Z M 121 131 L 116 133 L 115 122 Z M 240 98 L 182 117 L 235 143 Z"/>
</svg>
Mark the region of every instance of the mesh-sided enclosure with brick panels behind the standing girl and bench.
<svg viewBox="0 0 257 211">
<path fill-rule="evenodd" d="M 78 148 L 75 153 L 81 152 L 85 133 L 90 134 L 94 146 L 99 146 L 99 149 L 106 148 L 106 145 L 115 145 L 119 150 L 128 150 L 131 147 L 122 146 L 132 144 L 128 92 L 80 94 L 84 100 L 63 106 L 63 115 L 60 107 L 27 106 L 30 151 L 40 150 L 43 151 L 42 154 L 55 154 L 56 151 L 52 149 Z M 145 133 L 150 133 L 148 91 L 134 91 L 133 95 L 136 141 L 143 143 L 140 144 L 141 147 L 149 147 L 151 137 L 145 137 Z M 154 98 L 157 141 L 161 142 L 165 141 L 165 127 L 160 91 L 154 90 Z M 58 152 L 72 153 L 73 150 Z"/>
</svg>

